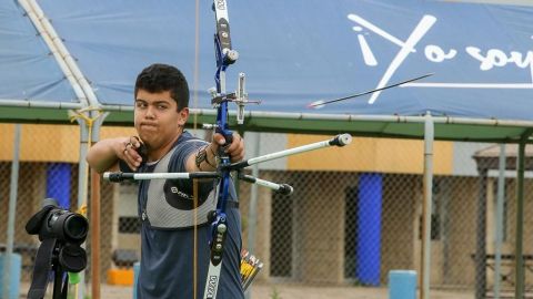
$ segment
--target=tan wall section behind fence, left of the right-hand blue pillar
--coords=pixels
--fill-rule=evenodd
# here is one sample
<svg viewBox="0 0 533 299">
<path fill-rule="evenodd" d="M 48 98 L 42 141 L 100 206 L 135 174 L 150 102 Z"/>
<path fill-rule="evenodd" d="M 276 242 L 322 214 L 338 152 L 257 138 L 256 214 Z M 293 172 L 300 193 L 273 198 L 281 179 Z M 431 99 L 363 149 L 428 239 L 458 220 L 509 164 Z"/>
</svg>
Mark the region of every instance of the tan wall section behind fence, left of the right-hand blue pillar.
<svg viewBox="0 0 533 299">
<path fill-rule="evenodd" d="M 296 206 L 296 275 L 303 281 L 339 283 L 344 279 L 343 207 L 344 190 L 353 184 L 350 178 L 321 172 L 293 186 L 299 190 L 298 197 L 290 198 Z"/>
</svg>

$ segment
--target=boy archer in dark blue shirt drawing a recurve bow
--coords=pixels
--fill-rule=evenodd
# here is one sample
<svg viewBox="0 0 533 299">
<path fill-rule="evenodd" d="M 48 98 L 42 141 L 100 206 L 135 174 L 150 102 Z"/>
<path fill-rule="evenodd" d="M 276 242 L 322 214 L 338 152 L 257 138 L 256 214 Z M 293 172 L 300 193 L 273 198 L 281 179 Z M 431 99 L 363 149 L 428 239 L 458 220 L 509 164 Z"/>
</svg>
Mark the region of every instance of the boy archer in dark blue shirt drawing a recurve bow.
<svg viewBox="0 0 533 299">
<path fill-rule="evenodd" d="M 217 169 L 217 154 L 222 145 L 231 162 L 244 157 L 243 141 L 237 133 L 231 144 L 225 145 L 221 134 L 214 134 L 208 143 L 184 131 L 189 117 L 189 86 L 177 68 L 152 64 L 142 70 L 137 78 L 134 96 L 134 126 L 139 136 L 95 143 L 87 161 L 97 172 L 212 172 Z M 147 151 L 145 157 L 139 153 L 141 144 Z M 211 237 L 208 214 L 217 208 L 214 183 L 202 181 L 194 195 L 191 181 L 140 181 L 138 298 L 191 299 L 194 292 L 197 298 L 203 297 Z M 244 298 L 239 268 L 241 220 L 235 190 L 230 185 L 228 237 L 218 299 Z"/>
</svg>

